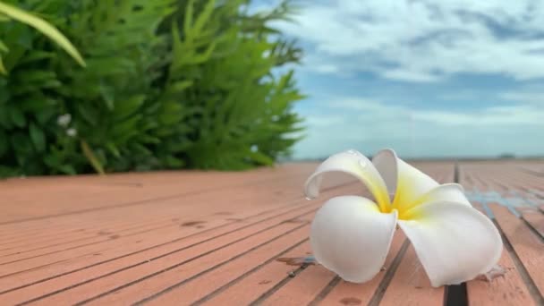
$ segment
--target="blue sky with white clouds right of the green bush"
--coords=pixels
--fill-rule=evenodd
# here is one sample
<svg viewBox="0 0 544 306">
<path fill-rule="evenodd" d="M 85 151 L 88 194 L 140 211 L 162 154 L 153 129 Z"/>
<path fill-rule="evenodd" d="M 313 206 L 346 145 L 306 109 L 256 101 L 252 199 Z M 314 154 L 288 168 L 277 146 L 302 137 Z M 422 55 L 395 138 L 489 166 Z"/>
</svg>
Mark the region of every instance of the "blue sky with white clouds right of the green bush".
<svg viewBox="0 0 544 306">
<path fill-rule="evenodd" d="M 294 157 L 544 155 L 544 2 L 297 3 L 295 23 L 274 24 L 305 51 Z"/>
</svg>

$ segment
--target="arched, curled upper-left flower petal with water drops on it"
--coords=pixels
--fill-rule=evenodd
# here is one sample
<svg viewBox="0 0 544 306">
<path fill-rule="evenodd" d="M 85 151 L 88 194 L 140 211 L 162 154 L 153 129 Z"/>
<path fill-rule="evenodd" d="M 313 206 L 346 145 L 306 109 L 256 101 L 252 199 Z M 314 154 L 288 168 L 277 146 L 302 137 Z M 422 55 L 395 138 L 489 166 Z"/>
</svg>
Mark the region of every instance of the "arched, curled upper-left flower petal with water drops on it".
<svg viewBox="0 0 544 306">
<path fill-rule="evenodd" d="M 335 154 L 328 157 L 306 181 L 305 191 L 309 198 L 319 195 L 319 185 L 322 175 L 327 172 L 338 171 L 352 174 L 364 183 L 378 202 L 383 211 L 390 210 L 389 194 L 387 186 L 378 170 L 370 162 L 369 158 L 355 150 Z"/>
</svg>

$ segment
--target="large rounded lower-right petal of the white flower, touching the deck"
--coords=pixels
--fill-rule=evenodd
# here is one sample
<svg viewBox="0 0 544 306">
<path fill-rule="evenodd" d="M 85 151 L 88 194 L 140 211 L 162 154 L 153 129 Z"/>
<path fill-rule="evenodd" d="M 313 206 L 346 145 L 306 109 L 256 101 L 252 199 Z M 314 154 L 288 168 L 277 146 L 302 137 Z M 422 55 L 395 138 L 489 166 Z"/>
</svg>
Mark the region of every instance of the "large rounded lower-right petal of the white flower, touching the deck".
<svg viewBox="0 0 544 306">
<path fill-rule="evenodd" d="M 480 211 L 459 203 L 430 202 L 412 208 L 398 224 L 410 239 L 431 285 L 456 285 L 488 272 L 503 244 Z"/>
</svg>

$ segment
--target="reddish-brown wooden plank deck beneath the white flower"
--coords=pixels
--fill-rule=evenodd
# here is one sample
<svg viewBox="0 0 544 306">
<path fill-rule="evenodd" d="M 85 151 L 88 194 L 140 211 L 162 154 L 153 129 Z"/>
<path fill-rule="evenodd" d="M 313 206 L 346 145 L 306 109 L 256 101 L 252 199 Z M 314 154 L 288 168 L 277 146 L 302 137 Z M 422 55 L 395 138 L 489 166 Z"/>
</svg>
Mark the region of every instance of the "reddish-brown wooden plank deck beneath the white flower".
<svg viewBox="0 0 544 306">
<path fill-rule="evenodd" d="M 544 162 L 414 165 L 496 222 L 505 276 L 431 288 L 401 231 L 364 285 L 277 260 L 309 254 L 324 200 L 364 193 L 337 176 L 305 200 L 316 164 L 28 178 L 0 182 L 0 305 L 544 305 Z"/>
</svg>

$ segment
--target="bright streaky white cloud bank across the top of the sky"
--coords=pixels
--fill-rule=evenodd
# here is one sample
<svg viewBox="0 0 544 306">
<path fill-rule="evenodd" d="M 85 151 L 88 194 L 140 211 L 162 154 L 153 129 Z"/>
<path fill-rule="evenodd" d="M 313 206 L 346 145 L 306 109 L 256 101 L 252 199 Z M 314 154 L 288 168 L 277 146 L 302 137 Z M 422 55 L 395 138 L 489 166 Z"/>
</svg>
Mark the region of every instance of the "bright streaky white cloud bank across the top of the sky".
<svg viewBox="0 0 544 306">
<path fill-rule="evenodd" d="M 308 69 L 377 72 L 402 81 L 453 73 L 544 77 L 544 2 L 343 0 L 302 2 L 277 27 L 307 47 Z"/>
</svg>

